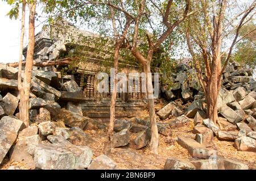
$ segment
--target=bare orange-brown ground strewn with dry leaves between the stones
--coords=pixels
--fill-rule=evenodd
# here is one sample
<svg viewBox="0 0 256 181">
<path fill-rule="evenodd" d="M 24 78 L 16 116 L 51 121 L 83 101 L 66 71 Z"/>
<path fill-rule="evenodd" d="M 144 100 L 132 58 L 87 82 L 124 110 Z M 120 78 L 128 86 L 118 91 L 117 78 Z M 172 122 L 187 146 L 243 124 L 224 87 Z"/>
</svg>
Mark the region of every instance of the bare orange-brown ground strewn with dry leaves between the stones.
<svg viewBox="0 0 256 181">
<path fill-rule="evenodd" d="M 161 105 L 162 104 L 162 105 Z M 156 108 L 163 107 L 166 103 L 160 103 L 156 105 Z M 142 112 L 142 115 L 147 115 L 147 112 Z M 159 154 L 155 155 L 150 153 L 148 148 L 141 150 L 133 150 L 128 146 L 122 148 L 112 149 L 109 157 L 117 163 L 117 169 L 163 169 L 164 163 L 168 157 L 183 158 L 192 160 L 188 151 L 181 147 L 175 141 L 179 136 L 193 137 L 193 120 L 184 127 L 172 129 L 172 136 L 163 136 L 159 134 Z M 90 148 L 93 151 L 93 158 L 98 155 L 104 154 L 104 140 L 105 131 L 85 131 L 95 141 Z M 135 133 L 131 133 L 131 138 L 135 136 Z M 219 151 L 220 155 L 225 158 L 232 158 L 237 161 L 247 163 L 250 168 L 256 168 L 256 153 L 248 151 L 237 151 L 234 148 L 233 141 L 219 141 L 216 137 L 213 140 L 213 149 Z M 20 165 L 17 162 L 9 162 L 6 158 L 0 169 L 8 169 L 10 166 L 19 166 L 21 169 L 26 169 L 25 165 Z"/>
</svg>

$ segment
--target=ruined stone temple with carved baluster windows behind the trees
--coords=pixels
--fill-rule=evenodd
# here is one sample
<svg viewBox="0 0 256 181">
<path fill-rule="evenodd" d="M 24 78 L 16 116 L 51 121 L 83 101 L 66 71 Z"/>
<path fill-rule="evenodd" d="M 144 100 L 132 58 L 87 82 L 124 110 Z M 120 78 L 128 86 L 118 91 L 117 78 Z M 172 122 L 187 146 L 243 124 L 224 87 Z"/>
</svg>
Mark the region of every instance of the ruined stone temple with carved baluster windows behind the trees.
<svg viewBox="0 0 256 181">
<path fill-rule="evenodd" d="M 112 86 L 109 85 L 109 92 L 100 93 L 97 91 L 97 75 L 101 71 L 108 73 L 109 83 L 110 83 L 110 68 L 113 68 L 113 60 L 109 58 L 109 65 L 105 64 L 106 57 L 98 56 L 97 47 L 92 43 L 87 43 L 81 39 L 84 37 L 89 37 L 90 41 L 97 40 L 100 36 L 88 32 L 82 31 L 73 26 L 70 23 L 65 24 L 68 28 L 65 29 L 65 32 L 53 32 L 50 33 L 49 28 L 43 28 L 35 36 L 35 50 L 34 50 L 34 62 L 54 62 L 57 60 L 68 60 L 69 55 L 74 51 L 77 51 L 76 48 L 82 47 L 82 50 L 86 52 L 84 60 L 76 64 L 72 68 L 72 71 L 67 69 L 69 65 L 53 65 L 53 66 L 35 66 L 34 69 L 44 70 L 44 71 L 54 71 L 58 77 L 59 81 L 65 84 L 65 82 L 73 80 L 79 86 L 76 89 L 76 84 L 73 85 L 73 90 L 65 90 L 61 85 L 52 85 L 55 89 L 61 91 L 61 97 L 58 102 L 61 104 L 67 102 L 75 102 L 80 104 L 84 116 L 97 118 L 97 119 L 108 119 L 110 112 L 110 89 Z M 53 28 L 54 30 L 54 28 Z M 89 41 L 89 40 L 88 40 Z M 72 42 L 72 43 L 71 43 Z M 26 56 L 27 48 L 23 49 L 23 54 Z M 137 62 L 127 62 L 120 60 L 119 61 L 119 72 L 128 73 L 141 73 Z M 67 70 L 65 74 L 61 74 L 63 70 Z M 141 79 L 140 79 L 141 81 Z M 129 117 L 136 115 L 138 111 L 145 109 L 146 104 L 143 101 L 143 94 L 141 93 L 141 83 L 138 87 L 133 81 L 133 91 L 130 92 L 119 92 L 117 93 L 117 103 L 116 103 L 116 116 L 117 117 Z M 139 90 L 135 91 L 135 90 Z"/>
</svg>

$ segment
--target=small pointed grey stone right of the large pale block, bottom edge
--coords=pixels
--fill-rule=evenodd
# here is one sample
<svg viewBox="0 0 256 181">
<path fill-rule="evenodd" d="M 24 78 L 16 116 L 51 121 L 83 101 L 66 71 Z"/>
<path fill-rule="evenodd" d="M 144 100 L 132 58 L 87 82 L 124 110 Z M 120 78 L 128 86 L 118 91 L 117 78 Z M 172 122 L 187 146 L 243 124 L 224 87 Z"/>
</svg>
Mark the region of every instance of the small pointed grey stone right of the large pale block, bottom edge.
<svg viewBox="0 0 256 181">
<path fill-rule="evenodd" d="M 92 160 L 88 170 L 114 170 L 116 166 L 117 164 L 112 159 L 102 154 Z"/>
</svg>

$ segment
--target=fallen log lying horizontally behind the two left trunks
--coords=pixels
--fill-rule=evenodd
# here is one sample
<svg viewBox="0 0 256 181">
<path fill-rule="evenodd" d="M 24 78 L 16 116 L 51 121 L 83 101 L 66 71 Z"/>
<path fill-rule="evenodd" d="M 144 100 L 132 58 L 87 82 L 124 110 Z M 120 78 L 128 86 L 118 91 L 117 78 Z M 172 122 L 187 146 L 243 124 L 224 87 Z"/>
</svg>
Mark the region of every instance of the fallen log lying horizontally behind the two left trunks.
<svg viewBox="0 0 256 181">
<path fill-rule="evenodd" d="M 33 62 L 33 66 L 46 67 L 46 66 L 54 66 L 54 65 L 67 65 L 70 64 L 75 58 L 62 58 L 56 61 L 47 61 L 47 62 Z M 13 68 L 17 68 L 19 66 L 18 62 L 9 63 L 8 66 Z M 26 61 L 22 62 L 22 66 L 26 65 Z"/>
</svg>

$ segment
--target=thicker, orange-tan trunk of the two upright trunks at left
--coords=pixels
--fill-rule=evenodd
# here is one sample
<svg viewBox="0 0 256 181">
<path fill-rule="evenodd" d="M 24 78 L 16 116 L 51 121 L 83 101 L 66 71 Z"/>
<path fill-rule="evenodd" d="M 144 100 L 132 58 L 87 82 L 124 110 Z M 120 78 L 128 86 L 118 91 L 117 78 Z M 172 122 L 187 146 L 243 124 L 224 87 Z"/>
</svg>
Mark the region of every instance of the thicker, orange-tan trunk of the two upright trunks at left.
<svg viewBox="0 0 256 181">
<path fill-rule="evenodd" d="M 29 4 L 30 9 L 30 20 L 28 25 L 28 46 L 27 46 L 27 57 L 26 66 L 24 71 L 23 89 L 24 95 L 20 99 L 20 117 L 28 127 L 28 108 L 29 108 L 29 96 L 30 96 L 30 84 L 31 84 L 31 73 L 32 65 L 34 60 L 34 47 L 35 47 L 35 7 L 36 1 L 31 1 Z"/>
</svg>

